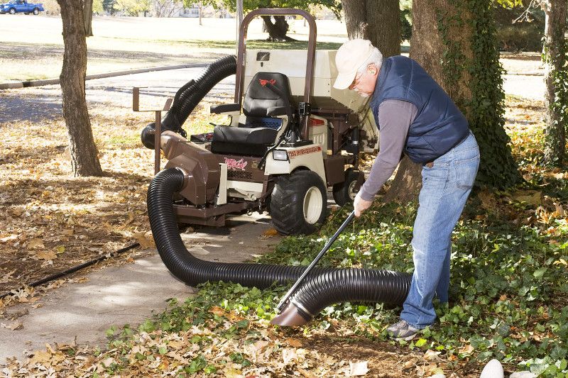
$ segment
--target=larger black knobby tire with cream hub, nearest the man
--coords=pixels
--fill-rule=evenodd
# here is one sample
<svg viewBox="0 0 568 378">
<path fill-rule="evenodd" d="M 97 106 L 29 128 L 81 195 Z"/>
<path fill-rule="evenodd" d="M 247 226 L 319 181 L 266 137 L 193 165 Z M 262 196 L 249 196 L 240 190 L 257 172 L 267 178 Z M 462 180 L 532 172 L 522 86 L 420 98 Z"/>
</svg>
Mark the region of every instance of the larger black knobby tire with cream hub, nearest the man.
<svg viewBox="0 0 568 378">
<path fill-rule="evenodd" d="M 280 176 L 272 191 L 272 223 L 283 235 L 314 233 L 325 220 L 326 208 L 324 182 L 312 171 Z"/>
</svg>

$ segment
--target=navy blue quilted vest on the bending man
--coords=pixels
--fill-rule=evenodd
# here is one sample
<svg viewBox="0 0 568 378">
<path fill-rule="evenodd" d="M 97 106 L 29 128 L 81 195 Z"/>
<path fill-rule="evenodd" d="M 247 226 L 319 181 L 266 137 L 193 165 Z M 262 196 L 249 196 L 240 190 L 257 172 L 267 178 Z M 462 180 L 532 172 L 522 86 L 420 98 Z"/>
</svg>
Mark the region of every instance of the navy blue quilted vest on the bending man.
<svg viewBox="0 0 568 378">
<path fill-rule="evenodd" d="M 391 99 L 411 102 L 418 109 L 404 147 L 415 163 L 432 162 L 469 135 L 467 119 L 454 101 L 408 57 L 396 55 L 383 60 L 369 103 L 379 129 L 378 106 Z"/>
</svg>

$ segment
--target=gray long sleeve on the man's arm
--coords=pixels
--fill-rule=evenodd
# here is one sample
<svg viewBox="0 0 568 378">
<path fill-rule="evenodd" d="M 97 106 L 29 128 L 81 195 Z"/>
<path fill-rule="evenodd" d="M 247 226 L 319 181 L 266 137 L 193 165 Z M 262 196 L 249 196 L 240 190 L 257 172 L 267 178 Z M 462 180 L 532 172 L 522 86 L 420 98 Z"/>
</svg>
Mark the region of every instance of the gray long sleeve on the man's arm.
<svg viewBox="0 0 568 378">
<path fill-rule="evenodd" d="M 359 191 L 362 199 L 373 201 L 375 194 L 395 172 L 403 155 L 408 129 L 417 112 L 416 106 L 408 101 L 387 100 L 378 106 L 378 123 L 381 126 L 378 154 L 367 181 Z"/>
</svg>

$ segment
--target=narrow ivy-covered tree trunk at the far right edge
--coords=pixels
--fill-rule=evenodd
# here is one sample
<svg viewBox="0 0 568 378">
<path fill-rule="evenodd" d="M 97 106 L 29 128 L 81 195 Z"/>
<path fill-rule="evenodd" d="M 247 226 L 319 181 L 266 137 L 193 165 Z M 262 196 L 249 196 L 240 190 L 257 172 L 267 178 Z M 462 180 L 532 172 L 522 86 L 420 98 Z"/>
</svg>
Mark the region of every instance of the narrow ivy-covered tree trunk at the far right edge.
<svg viewBox="0 0 568 378">
<path fill-rule="evenodd" d="M 566 62 L 564 30 L 566 29 L 566 0 L 550 0 L 543 5 L 546 14 L 545 23 L 545 105 L 546 105 L 546 136 L 544 162 L 548 165 L 560 167 L 564 161 L 566 148 L 566 125 L 563 109 L 560 104 L 566 85 L 562 77 L 555 77 L 562 71 Z M 564 99 L 565 101 L 566 99 Z"/>
</svg>

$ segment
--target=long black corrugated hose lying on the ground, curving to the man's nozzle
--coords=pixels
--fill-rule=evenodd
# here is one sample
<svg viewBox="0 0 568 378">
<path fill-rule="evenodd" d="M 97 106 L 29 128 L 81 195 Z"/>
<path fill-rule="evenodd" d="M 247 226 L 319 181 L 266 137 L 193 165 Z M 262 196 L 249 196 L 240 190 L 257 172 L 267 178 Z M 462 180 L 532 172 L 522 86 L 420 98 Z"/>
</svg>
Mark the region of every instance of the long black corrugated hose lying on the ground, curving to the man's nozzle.
<svg viewBox="0 0 568 378">
<path fill-rule="evenodd" d="M 184 174 L 180 169 L 164 169 L 153 178 L 147 199 L 156 248 L 175 277 L 192 286 L 223 281 L 264 289 L 272 284 L 294 282 L 302 275 L 305 267 L 208 262 L 191 255 L 180 237 L 173 211 L 173 194 L 182 188 L 183 182 Z M 330 304 L 343 301 L 403 304 L 410 289 L 410 279 L 408 273 L 381 269 L 316 267 L 290 303 L 305 319 L 303 323 Z"/>
</svg>

